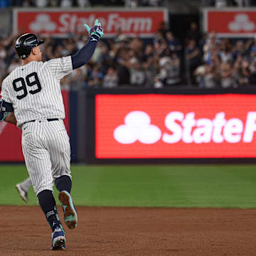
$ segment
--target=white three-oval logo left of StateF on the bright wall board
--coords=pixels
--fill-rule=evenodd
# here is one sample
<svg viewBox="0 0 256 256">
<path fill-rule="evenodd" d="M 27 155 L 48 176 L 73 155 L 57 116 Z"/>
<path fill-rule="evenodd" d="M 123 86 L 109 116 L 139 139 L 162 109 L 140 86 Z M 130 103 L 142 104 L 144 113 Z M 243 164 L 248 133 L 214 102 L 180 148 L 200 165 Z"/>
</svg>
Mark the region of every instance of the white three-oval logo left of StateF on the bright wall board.
<svg viewBox="0 0 256 256">
<path fill-rule="evenodd" d="M 122 144 L 132 144 L 136 141 L 153 144 L 161 139 L 161 130 L 150 124 L 149 114 L 142 111 L 129 112 L 124 117 L 124 124 L 114 129 L 114 139 Z"/>
</svg>

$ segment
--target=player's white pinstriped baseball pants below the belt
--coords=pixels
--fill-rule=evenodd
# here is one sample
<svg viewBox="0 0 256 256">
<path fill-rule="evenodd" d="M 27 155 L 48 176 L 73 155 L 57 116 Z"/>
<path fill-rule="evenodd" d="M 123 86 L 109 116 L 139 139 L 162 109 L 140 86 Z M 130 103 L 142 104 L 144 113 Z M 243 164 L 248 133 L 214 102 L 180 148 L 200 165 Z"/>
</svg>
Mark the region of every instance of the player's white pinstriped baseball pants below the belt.
<svg viewBox="0 0 256 256">
<path fill-rule="evenodd" d="M 63 120 L 36 120 L 22 126 L 22 150 L 38 195 L 53 191 L 55 178 L 70 176 L 70 142 Z"/>
</svg>

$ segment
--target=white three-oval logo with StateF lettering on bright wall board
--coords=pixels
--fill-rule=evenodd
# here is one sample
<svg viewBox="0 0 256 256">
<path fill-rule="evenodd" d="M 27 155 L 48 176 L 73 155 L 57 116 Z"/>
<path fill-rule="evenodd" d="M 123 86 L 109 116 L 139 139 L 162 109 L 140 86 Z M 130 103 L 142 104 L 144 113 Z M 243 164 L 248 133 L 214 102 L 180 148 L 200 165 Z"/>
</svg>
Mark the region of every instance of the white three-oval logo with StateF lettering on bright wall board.
<svg viewBox="0 0 256 256">
<path fill-rule="evenodd" d="M 150 124 L 149 114 L 142 111 L 129 112 L 124 124 L 114 129 L 114 139 L 121 144 L 139 141 L 154 144 L 161 139 L 165 143 L 250 143 L 256 132 L 256 112 L 247 112 L 245 125 L 239 118 L 225 119 L 225 112 L 215 114 L 213 119 L 195 119 L 195 112 L 169 112 L 164 124 L 170 132 L 164 132 L 156 125 Z"/>
</svg>

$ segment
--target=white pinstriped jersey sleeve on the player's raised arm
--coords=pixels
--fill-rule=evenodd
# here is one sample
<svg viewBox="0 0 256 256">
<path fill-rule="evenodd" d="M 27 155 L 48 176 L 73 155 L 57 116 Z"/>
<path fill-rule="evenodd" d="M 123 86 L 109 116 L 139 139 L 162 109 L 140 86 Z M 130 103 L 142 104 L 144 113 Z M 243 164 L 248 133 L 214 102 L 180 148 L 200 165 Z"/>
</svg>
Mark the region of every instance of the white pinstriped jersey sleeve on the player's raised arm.
<svg viewBox="0 0 256 256">
<path fill-rule="evenodd" d="M 46 61 L 46 65 L 48 65 L 51 73 L 53 73 L 57 79 L 64 78 L 65 75 L 73 72 L 71 56 L 48 60 Z"/>
</svg>

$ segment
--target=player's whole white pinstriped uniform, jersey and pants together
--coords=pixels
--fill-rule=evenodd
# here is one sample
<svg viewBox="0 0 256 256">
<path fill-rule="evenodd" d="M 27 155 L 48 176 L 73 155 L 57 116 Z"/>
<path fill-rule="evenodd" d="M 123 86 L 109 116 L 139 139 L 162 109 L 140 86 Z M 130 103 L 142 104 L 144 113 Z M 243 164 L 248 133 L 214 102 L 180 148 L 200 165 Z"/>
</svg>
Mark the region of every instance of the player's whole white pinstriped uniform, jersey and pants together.
<svg viewBox="0 0 256 256">
<path fill-rule="evenodd" d="M 60 79 L 72 71 L 71 56 L 32 61 L 16 68 L 2 84 L 2 99 L 13 105 L 17 127 L 22 129 L 23 155 L 36 194 L 52 191 L 59 176 L 71 177 Z M 53 118 L 59 120 L 48 122 Z"/>
</svg>

